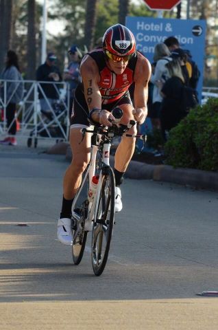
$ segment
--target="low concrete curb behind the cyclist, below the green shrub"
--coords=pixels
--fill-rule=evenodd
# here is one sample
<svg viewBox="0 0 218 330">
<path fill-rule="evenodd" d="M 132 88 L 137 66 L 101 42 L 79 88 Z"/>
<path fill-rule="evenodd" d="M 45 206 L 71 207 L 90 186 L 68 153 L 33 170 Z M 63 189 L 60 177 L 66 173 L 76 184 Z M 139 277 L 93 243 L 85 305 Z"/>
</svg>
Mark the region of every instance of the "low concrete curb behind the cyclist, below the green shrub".
<svg viewBox="0 0 218 330">
<path fill-rule="evenodd" d="M 66 145 L 64 145 L 64 148 Z M 51 152 L 50 152 L 51 153 Z M 71 162 L 71 148 L 66 148 L 66 159 Z M 114 156 L 111 156 L 114 165 Z M 152 165 L 132 160 L 125 173 L 130 179 L 153 179 L 154 181 L 172 182 L 193 188 L 218 191 L 218 173 L 193 168 L 173 168 L 169 165 Z"/>
</svg>

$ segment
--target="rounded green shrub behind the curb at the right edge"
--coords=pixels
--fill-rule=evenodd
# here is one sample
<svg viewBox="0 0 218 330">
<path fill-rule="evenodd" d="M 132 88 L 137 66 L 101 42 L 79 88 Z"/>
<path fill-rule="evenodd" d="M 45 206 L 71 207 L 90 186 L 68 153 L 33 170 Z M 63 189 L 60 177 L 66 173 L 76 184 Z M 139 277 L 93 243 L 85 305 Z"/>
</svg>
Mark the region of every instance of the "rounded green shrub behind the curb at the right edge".
<svg viewBox="0 0 218 330">
<path fill-rule="evenodd" d="M 218 99 L 192 109 L 171 129 L 165 154 L 173 167 L 218 170 Z"/>
</svg>

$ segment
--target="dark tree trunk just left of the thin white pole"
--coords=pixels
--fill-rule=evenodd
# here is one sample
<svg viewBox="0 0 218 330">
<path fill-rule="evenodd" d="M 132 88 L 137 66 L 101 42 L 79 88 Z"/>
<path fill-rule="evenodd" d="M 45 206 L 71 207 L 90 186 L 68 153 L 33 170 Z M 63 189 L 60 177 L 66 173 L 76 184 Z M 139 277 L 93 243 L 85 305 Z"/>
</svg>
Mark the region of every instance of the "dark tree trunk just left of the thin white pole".
<svg viewBox="0 0 218 330">
<path fill-rule="evenodd" d="M 36 1 L 28 0 L 27 17 L 27 76 L 29 80 L 34 80 L 36 76 L 36 24 L 35 24 Z"/>
</svg>

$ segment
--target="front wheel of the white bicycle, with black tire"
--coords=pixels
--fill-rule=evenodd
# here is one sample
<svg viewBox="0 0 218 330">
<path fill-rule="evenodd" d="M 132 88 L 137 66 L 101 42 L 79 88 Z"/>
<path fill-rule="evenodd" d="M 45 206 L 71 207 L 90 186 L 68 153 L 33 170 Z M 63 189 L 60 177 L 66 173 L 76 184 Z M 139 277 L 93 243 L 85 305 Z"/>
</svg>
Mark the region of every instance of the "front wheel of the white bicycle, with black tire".
<svg viewBox="0 0 218 330">
<path fill-rule="evenodd" d="M 112 168 L 104 169 L 100 189 L 100 196 L 95 206 L 92 236 L 92 264 L 96 276 L 101 275 L 106 266 L 114 225 L 115 183 Z"/>
</svg>

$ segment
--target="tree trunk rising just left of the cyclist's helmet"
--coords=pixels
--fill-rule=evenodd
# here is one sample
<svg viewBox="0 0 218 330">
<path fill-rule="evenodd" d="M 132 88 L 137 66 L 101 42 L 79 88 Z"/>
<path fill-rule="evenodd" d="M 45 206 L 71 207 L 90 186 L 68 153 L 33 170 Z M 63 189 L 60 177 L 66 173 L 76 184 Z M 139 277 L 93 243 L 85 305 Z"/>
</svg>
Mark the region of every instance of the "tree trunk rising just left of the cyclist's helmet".
<svg viewBox="0 0 218 330">
<path fill-rule="evenodd" d="M 87 0 L 84 44 L 91 50 L 94 45 L 97 0 Z"/>
</svg>

